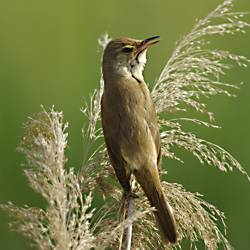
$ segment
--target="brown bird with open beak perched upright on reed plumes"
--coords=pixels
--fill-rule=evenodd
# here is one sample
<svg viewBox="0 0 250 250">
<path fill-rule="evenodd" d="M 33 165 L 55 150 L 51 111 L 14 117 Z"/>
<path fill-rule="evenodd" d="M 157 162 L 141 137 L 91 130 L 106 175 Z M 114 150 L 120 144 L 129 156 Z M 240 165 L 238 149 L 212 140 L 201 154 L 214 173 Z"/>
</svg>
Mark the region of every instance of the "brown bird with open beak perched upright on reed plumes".
<svg viewBox="0 0 250 250">
<path fill-rule="evenodd" d="M 150 204 L 165 243 L 177 242 L 171 208 L 164 196 L 158 168 L 161 142 L 157 115 L 143 79 L 147 49 L 159 36 L 145 40 L 118 38 L 103 55 L 104 93 L 101 118 L 111 164 L 126 194 L 134 174 Z"/>
</svg>

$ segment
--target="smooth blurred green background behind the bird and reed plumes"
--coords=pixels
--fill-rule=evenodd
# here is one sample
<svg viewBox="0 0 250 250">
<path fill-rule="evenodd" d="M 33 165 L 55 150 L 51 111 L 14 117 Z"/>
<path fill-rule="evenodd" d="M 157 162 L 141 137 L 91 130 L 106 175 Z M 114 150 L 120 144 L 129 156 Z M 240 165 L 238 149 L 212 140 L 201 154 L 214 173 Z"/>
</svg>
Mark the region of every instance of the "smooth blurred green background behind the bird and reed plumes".
<svg viewBox="0 0 250 250">
<path fill-rule="evenodd" d="M 0 0 L 0 203 L 43 205 L 22 173 L 22 155 L 16 146 L 22 123 L 40 110 L 40 104 L 63 110 L 70 123 L 68 165 L 79 167 L 83 141 L 80 113 L 100 78 L 97 39 L 112 37 L 143 39 L 161 35 L 161 43 L 149 53 L 145 71 L 154 82 L 171 54 L 175 42 L 187 33 L 196 18 L 208 14 L 222 1 L 210 0 Z M 236 10 L 249 11 L 250 1 L 238 0 Z M 247 17 L 250 21 L 250 18 Z M 213 46 L 250 57 L 250 30 L 246 35 L 214 39 Z M 250 173 L 250 68 L 234 68 L 226 77 L 244 81 L 238 98 L 219 96 L 209 101 L 223 129 L 199 129 L 200 136 L 231 152 Z M 185 164 L 168 161 L 169 180 L 198 191 L 225 211 L 228 238 L 236 250 L 250 249 L 250 183 L 237 171 L 220 173 L 200 166 L 197 159 L 180 152 Z M 9 218 L 0 211 L 0 249 L 30 249 L 20 234 L 10 232 Z"/>
</svg>

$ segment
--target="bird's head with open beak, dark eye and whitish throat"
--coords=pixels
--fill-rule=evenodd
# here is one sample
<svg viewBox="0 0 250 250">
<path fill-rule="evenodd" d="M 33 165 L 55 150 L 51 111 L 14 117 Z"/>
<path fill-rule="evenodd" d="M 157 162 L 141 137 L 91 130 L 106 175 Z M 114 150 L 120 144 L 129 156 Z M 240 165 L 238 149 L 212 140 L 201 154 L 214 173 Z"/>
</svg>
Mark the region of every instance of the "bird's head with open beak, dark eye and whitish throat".
<svg viewBox="0 0 250 250">
<path fill-rule="evenodd" d="M 111 40 L 103 55 L 104 79 L 112 76 L 132 76 L 143 80 L 143 69 L 146 63 L 147 49 L 159 42 L 159 36 L 145 40 L 117 38 Z"/>
</svg>

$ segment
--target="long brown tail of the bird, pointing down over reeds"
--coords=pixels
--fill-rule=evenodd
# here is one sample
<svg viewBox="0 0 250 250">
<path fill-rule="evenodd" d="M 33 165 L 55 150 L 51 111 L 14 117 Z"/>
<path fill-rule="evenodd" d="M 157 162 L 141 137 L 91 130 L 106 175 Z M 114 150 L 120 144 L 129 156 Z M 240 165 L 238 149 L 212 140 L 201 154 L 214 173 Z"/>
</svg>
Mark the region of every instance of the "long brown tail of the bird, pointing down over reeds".
<svg viewBox="0 0 250 250">
<path fill-rule="evenodd" d="M 176 243 L 178 238 L 176 223 L 164 196 L 157 168 L 139 169 L 134 174 L 151 206 L 156 208 L 154 214 L 163 242 Z"/>
</svg>

